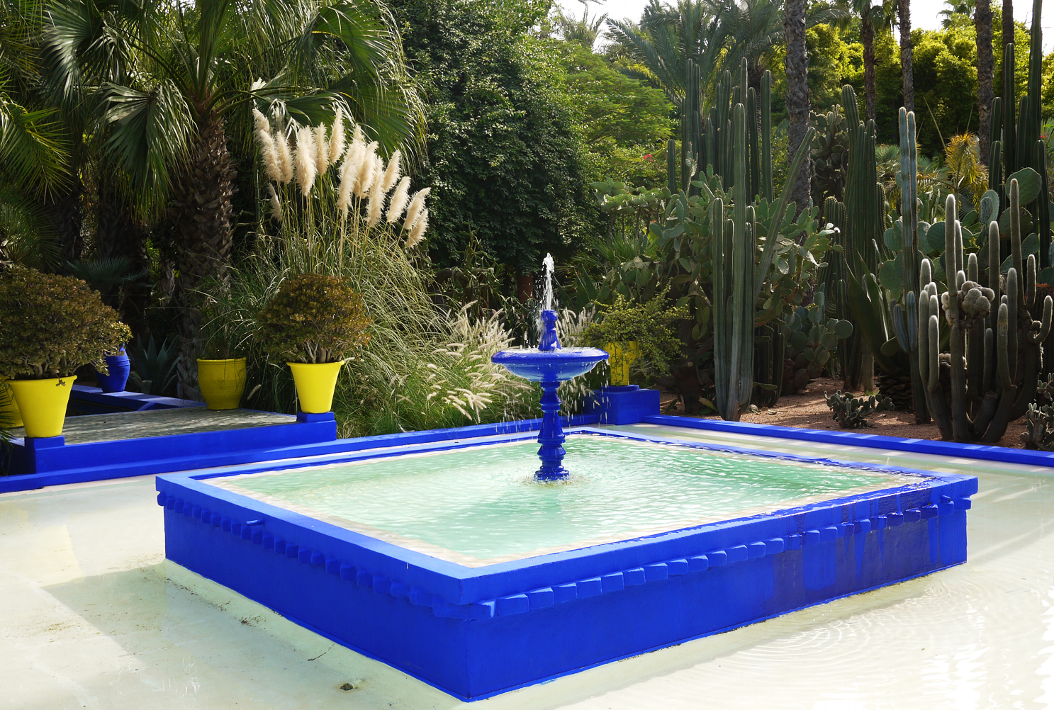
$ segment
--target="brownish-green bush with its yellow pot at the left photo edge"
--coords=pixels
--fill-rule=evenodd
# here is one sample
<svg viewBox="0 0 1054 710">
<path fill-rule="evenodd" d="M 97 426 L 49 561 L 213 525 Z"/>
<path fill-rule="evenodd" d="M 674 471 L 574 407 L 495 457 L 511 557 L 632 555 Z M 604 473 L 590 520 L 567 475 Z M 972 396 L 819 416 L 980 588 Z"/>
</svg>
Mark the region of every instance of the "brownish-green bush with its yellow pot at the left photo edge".
<svg viewBox="0 0 1054 710">
<path fill-rule="evenodd" d="M 0 276 L 0 377 L 31 437 L 59 436 L 76 378 L 92 363 L 106 374 L 103 357 L 132 337 L 98 292 L 70 276 L 11 269 Z"/>
</svg>

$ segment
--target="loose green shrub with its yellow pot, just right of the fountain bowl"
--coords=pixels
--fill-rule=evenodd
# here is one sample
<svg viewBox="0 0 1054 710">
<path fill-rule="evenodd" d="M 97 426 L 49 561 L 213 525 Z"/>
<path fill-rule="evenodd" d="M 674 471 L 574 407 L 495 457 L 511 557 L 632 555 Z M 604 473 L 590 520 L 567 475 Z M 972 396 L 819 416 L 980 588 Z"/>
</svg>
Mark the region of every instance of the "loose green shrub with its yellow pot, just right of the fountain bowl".
<svg viewBox="0 0 1054 710">
<path fill-rule="evenodd" d="M 614 303 L 601 305 L 601 320 L 587 326 L 578 339 L 589 348 L 607 351 L 611 384 L 624 387 L 629 384 L 629 367 L 638 358 L 652 376 L 669 371 L 670 360 L 681 354 L 677 322 L 686 317 L 684 307 L 667 307 L 665 294 L 646 303 L 631 303 L 619 294 Z"/>
</svg>

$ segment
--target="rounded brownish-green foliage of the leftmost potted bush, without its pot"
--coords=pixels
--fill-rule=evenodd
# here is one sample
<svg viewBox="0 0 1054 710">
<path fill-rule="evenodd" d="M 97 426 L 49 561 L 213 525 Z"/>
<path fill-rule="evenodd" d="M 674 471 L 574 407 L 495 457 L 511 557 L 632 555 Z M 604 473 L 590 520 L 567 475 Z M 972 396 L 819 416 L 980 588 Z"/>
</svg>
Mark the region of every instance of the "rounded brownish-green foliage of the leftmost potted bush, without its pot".
<svg viewBox="0 0 1054 710">
<path fill-rule="evenodd" d="M 33 269 L 0 275 L 0 377 L 67 377 L 89 363 L 108 374 L 102 356 L 131 337 L 117 311 L 81 280 Z"/>
</svg>

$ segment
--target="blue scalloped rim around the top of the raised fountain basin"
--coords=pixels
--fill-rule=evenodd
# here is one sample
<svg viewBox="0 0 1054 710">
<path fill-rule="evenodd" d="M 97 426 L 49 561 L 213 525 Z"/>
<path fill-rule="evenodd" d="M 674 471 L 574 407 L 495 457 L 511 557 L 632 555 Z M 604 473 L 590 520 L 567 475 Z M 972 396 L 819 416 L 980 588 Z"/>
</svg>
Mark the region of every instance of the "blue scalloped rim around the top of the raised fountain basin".
<svg viewBox="0 0 1054 710">
<path fill-rule="evenodd" d="M 856 534 L 866 535 L 886 527 L 924 522 L 935 516 L 968 510 L 970 496 L 977 492 L 977 479 L 972 476 L 846 464 L 585 427 L 570 430 L 568 434 L 676 443 L 709 451 L 906 474 L 918 476 L 918 482 L 833 498 L 777 513 L 479 568 L 437 559 L 204 482 L 220 476 L 281 470 L 289 468 L 289 462 L 159 476 L 158 504 L 168 511 L 182 513 L 225 532 L 240 534 L 242 539 L 251 539 L 264 550 L 295 557 L 302 564 L 325 565 L 327 570 L 339 574 L 341 579 L 354 580 L 360 587 L 372 588 L 374 592 L 406 597 L 417 606 L 430 606 L 436 616 L 484 619 L 620 592 L 627 587 L 670 576 L 705 573 L 713 568 L 779 555 Z M 528 438 L 521 434 L 485 442 L 462 439 L 433 447 L 370 450 L 340 457 L 300 460 L 295 466 L 398 456 Z M 252 538 L 245 536 L 247 533 L 242 526 L 246 520 L 257 521 Z M 311 557 L 309 553 L 316 556 Z"/>
</svg>

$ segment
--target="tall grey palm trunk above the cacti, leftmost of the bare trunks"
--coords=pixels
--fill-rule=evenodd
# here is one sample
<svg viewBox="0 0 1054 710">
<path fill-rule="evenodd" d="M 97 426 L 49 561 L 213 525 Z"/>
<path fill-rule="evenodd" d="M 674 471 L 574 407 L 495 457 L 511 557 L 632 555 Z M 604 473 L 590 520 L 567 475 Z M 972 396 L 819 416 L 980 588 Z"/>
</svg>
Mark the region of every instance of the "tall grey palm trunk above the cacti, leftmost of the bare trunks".
<svg viewBox="0 0 1054 710">
<path fill-rule="evenodd" d="M 808 52 L 805 48 L 805 0 L 785 0 L 783 33 L 786 36 L 787 56 L 787 115 L 790 119 L 787 162 L 794 160 L 798 146 L 808 131 Z M 795 181 L 793 197 L 796 214 L 808 209 L 809 184 L 813 179 L 813 159 L 806 154 L 801 172 Z"/>
</svg>

